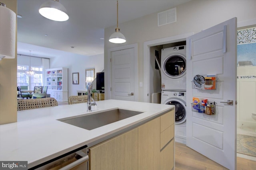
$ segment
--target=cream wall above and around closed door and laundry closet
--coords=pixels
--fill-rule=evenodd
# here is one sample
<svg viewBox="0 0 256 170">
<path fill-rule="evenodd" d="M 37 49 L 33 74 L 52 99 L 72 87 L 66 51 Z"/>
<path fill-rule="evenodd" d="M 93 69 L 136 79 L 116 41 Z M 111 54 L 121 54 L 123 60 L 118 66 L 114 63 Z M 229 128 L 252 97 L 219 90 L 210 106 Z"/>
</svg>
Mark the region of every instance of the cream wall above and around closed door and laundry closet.
<svg viewBox="0 0 256 170">
<path fill-rule="evenodd" d="M 255 6 L 255 0 L 192 0 L 176 7 L 177 22 L 175 23 L 158 27 L 157 13 L 119 23 L 118 27 L 127 40 L 126 43 L 119 45 L 108 41 L 116 26 L 106 28 L 104 30 L 104 70 L 110 72 L 110 68 L 108 68 L 108 49 L 138 43 L 138 82 L 143 82 L 143 43 L 145 41 L 191 32 L 198 33 L 234 17 L 237 17 L 238 22 L 256 20 Z M 108 74 L 105 75 L 105 89 L 110 89 L 108 87 Z M 138 98 L 140 102 L 143 102 L 144 96 L 147 95 L 144 94 L 143 88 L 139 87 Z M 105 93 L 109 92 L 105 91 Z"/>
</svg>

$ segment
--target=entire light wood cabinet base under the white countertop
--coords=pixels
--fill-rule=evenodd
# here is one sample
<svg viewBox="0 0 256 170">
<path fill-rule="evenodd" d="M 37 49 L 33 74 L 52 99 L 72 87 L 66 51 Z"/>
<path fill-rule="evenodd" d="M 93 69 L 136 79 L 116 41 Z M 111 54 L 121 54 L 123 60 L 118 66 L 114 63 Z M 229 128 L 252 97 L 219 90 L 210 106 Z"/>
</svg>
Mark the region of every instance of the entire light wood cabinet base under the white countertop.
<svg viewBox="0 0 256 170">
<path fill-rule="evenodd" d="M 89 148 L 89 170 L 172 170 L 173 167 L 174 109 Z"/>
</svg>

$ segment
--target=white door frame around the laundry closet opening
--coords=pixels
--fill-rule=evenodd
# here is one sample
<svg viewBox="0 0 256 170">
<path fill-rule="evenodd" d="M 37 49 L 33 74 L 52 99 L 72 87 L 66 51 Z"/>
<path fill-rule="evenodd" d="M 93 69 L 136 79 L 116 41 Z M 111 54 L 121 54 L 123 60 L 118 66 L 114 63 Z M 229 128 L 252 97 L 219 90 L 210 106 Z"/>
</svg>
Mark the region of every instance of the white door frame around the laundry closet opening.
<svg viewBox="0 0 256 170">
<path fill-rule="evenodd" d="M 194 33 L 184 33 L 180 35 L 175 35 L 171 37 L 165 37 L 165 38 L 160 38 L 160 39 L 154 39 L 151 41 L 145 41 L 143 44 L 143 63 L 144 63 L 144 102 L 150 102 L 150 47 L 156 46 L 156 45 L 164 45 L 164 44 L 169 44 L 169 43 L 175 43 L 178 41 L 186 41 L 186 37 L 189 37 L 193 35 Z"/>
</svg>

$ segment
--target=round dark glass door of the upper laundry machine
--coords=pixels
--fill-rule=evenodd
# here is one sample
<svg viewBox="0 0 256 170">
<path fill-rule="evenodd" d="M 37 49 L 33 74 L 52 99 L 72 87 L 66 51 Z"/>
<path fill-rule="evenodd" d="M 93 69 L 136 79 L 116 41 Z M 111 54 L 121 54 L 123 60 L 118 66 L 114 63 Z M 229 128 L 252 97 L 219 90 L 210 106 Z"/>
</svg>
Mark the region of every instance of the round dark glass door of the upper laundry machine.
<svg viewBox="0 0 256 170">
<path fill-rule="evenodd" d="M 164 60 L 164 74 L 170 78 L 180 78 L 186 74 L 186 59 L 182 55 L 171 55 Z"/>
</svg>

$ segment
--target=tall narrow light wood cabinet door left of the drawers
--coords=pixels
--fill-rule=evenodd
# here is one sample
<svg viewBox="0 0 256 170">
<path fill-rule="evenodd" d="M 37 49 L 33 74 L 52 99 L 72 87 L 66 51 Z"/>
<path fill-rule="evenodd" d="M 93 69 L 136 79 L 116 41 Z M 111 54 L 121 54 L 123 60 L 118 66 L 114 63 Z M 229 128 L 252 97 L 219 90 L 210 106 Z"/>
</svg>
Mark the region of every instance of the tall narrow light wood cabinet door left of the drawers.
<svg viewBox="0 0 256 170">
<path fill-rule="evenodd" d="M 138 127 L 138 170 L 160 169 L 160 117 Z"/>
</svg>

